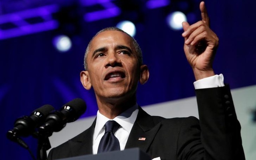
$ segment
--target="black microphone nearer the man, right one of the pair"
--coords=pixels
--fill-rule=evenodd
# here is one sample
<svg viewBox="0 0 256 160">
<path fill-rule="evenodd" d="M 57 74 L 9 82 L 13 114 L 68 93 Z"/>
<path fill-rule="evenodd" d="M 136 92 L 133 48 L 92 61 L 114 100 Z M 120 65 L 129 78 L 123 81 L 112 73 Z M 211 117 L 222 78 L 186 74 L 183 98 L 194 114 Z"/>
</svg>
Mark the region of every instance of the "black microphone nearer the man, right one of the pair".
<svg viewBox="0 0 256 160">
<path fill-rule="evenodd" d="M 39 127 L 41 135 L 51 136 L 52 132 L 59 132 L 68 122 L 74 122 L 86 111 L 84 100 L 75 98 L 64 104 L 60 111 L 55 111 L 46 117 L 45 123 Z"/>
</svg>

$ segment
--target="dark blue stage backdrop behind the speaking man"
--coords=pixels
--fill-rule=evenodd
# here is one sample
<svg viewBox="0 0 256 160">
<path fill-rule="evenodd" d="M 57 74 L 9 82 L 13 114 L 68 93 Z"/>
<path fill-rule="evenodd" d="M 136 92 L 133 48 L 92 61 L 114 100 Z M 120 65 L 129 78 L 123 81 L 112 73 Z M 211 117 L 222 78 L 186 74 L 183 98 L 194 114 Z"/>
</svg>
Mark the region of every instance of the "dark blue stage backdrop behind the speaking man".
<svg viewBox="0 0 256 160">
<path fill-rule="evenodd" d="M 32 31 L 32 28 L 24 27 L 23 31 L 13 31 L 20 36 L 9 38 L 3 37 L 6 33 L 4 27 L 22 23 L 2 23 L 6 20 L 3 17 L 5 11 L 9 9 L 10 13 L 25 14 L 21 9 L 24 7 L 24 10 L 29 10 L 30 6 L 26 5 L 30 1 L 0 2 L 0 118 L 3 125 L 0 132 L 0 159 L 32 160 L 24 148 L 6 138 L 6 132 L 13 128 L 18 117 L 29 115 L 44 104 L 51 104 L 58 110 L 74 98 L 83 98 L 87 110 L 82 117 L 96 114 L 93 90 L 85 90 L 80 83 L 84 51 L 98 30 L 115 26 L 125 18 L 134 20 L 137 28 L 135 39 L 142 48 L 144 63 L 150 70 L 149 81 L 138 86 L 138 104 L 145 106 L 194 96 L 194 76 L 183 52 L 182 30 L 170 29 L 166 25 L 166 16 L 171 11 L 183 9 L 190 15 L 188 22 L 194 23 L 200 20 L 199 0 L 182 1 L 185 4 L 178 4 L 177 0 L 158 0 L 165 5 L 155 8 L 149 5 L 154 0 L 131 0 L 129 3 L 109 0 L 108 4 L 118 6 L 117 12 L 111 12 L 116 14 L 106 14 L 110 17 L 104 17 L 103 14 L 98 20 L 93 19 L 94 16 L 90 17 L 89 13 L 98 9 L 96 5 L 102 8 L 101 1 L 98 1 L 99 4 L 90 4 L 91 0 L 67 0 L 65 4 L 59 0 L 37 1 L 31 8 L 54 5 L 56 10 L 52 9 L 55 12 L 52 19 L 58 20 L 57 27 L 54 28 L 52 24 L 53 29 L 22 35 L 25 31 Z M 16 8 L 10 7 L 17 2 Z M 17 9 L 18 5 L 20 10 Z M 214 61 L 216 74 L 224 74 L 224 81 L 231 88 L 255 85 L 256 2 L 208 0 L 206 6 L 211 28 L 220 38 Z M 9 18 L 13 17 L 9 15 Z M 49 26 L 46 24 L 45 28 Z M 61 32 L 70 35 L 73 43 L 72 48 L 65 53 L 58 52 L 52 45 L 52 38 Z M 37 140 L 32 137 L 23 139 L 36 155 Z"/>
</svg>

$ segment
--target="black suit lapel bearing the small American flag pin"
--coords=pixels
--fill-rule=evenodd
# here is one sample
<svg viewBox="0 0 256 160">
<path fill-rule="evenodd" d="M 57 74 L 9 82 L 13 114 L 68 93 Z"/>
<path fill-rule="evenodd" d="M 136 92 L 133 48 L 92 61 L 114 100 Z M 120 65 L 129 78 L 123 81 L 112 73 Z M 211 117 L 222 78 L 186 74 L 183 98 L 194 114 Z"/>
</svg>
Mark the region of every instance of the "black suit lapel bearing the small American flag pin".
<svg viewBox="0 0 256 160">
<path fill-rule="evenodd" d="M 139 147 L 146 152 L 160 126 L 160 122 L 155 124 L 152 116 L 139 107 L 138 116 L 132 127 L 125 148 Z M 142 140 L 139 140 L 139 138 L 142 138 Z M 145 138 L 145 140 L 143 140 L 143 138 Z"/>
</svg>

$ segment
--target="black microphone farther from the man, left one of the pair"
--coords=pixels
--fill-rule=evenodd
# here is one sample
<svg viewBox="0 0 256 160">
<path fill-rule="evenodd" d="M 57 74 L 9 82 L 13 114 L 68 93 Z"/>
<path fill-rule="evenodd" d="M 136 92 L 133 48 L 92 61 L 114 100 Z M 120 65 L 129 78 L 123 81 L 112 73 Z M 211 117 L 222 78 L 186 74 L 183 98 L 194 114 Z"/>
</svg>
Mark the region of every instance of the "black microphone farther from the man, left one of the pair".
<svg viewBox="0 0 256 160">
<path fill-rule="evenodd" d="M 14 128 L 7 132 L 7 138 L 17 142 L 19 136 L 29 136 L 35 132 L 35 128 L 41 126 L 48 114 L 53 111 L 53 106 L 46 104 L 34 110 L 30 116 L 22 116 L 14 123 Z"/>
</svg>

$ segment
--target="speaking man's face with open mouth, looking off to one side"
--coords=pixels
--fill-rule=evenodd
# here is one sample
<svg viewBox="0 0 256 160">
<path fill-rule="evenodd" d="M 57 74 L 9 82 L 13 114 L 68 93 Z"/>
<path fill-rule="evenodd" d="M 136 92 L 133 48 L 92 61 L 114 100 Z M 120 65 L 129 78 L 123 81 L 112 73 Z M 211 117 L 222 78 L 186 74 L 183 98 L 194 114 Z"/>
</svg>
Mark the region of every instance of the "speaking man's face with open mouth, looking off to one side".
<svg viewBox="0 0 256 160">
<path fill-rule="evenodd" d="M 88 83 L 93 86 L 97 98 L 135 94 L 140 66 L 128 35 L 120 31 L 101 32 L 92 40 L 86 61 Z"/>
</svg>

